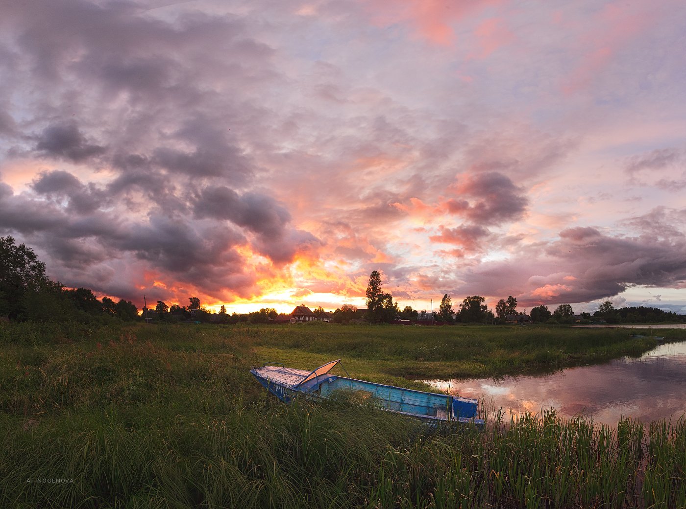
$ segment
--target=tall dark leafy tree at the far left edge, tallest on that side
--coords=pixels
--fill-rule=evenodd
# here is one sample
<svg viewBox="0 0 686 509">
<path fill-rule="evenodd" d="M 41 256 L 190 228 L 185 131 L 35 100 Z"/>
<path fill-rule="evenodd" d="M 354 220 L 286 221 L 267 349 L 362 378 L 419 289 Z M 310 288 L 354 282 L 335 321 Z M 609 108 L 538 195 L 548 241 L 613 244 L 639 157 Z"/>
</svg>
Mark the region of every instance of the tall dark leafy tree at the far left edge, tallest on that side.
<svg viewBox="0 0 686 509">
<path fill-rule="evenodd" d="M 30 247 L 14 245 L 10 236 L 0 237 L 0 316 L 19 318 L 27 290 L 35 293 L 48 281 L 45 264 Z"/>
</svg>

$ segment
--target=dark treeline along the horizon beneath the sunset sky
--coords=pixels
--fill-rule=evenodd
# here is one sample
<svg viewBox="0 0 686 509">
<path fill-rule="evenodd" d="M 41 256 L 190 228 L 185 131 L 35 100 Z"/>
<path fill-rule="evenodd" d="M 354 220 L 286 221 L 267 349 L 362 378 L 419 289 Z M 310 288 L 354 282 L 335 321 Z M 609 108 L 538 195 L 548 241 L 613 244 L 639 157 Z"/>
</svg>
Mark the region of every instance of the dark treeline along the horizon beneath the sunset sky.
<svg viewBox="0 0 686 509">
<path fill-rule="evenodd" d="M 390 293 L 383 291 L 381 273 L 372 271 L 366 290 L 367 308 L 358 310 L 344 304 L 332 314 L 335 323 L 366 321 L 370 323 L 414 323 L 420 312 L 411 306 L 402 310 Z M 314 314 L 327 314 L 323 308 L 316 308 Z M 425 310 L 422 311 L 425 314 Z M 189 297 L 187 306 L 167 305 L 157 301 L 150 308 L 138 308 L 131 301 L 110 297 L 97 299 L 88 288 L 67 288 L 59 282 L 50 280 L 45 274 L 45 264 L 31 248 L 25 244 L 15 245 L 11 236 L 0 237 L 0 319 L 12 321 L 67 322 L 82 323 L 121 321 L 182 322 L 204 323 L 269 323 L 278 313 L 273 308 L 244 314 L 228 314 L 222 306 L 215 313 L 200 303 L 198 297 Z M 486 306 L 486 298 L 480 295 L 465 297 L 457 310 L 453 310 L 451 296 L 443 295 L 438 310 L 431 317 L 432 323 L 680 323 L 686 316 L 665 312 L 659 308 L 628 307 L 615 309 L 611 301 L 602 303 L 593 314 L 582 312 L 576 315 L 569 304 L 560 304 L 554 310 L 547 306 L 536 306 L 527 313 L 517 310 L 517 299 L 508 296 L 500 299 L 495 313 Z"/>
</svg>

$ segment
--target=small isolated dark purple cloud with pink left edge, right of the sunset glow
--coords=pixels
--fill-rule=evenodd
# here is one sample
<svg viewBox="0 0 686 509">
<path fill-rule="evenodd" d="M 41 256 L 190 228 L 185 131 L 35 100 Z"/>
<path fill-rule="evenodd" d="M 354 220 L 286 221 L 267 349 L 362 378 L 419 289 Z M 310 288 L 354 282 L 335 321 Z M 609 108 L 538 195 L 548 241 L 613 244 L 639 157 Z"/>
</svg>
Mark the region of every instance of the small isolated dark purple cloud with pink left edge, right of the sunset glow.
<svg viewBox="0 0 686 509">
<path fill-rule="evenodd" d="M 449 199 L 447 210 L 479 224 L 515 221 L 529 203 L 524 191 L 509 177 L 493 171 L 466 177 L 455 189 L 460 198 Z"/>
</svg>

